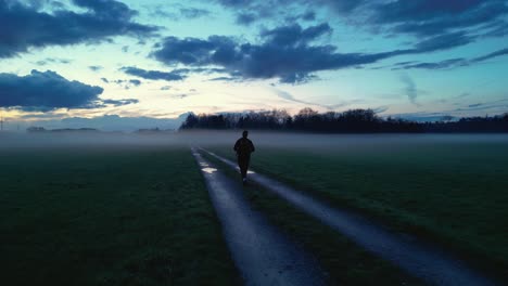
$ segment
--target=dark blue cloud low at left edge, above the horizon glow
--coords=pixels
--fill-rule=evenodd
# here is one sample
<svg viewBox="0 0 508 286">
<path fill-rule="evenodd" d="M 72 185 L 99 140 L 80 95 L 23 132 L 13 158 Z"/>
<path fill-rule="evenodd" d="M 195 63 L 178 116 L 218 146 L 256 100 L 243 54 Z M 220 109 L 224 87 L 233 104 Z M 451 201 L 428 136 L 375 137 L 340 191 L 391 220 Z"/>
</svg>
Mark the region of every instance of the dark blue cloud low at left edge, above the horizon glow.
<svg viewBox="0 0 508 286">
<path fill-rule="evenodd" d="M 100 87 L 69 81 L 59 74 L 31 70 L 27 76 L 0 74 L 0 106 L 26 110 L 92 108 L 99 102 Z"/>
</svg>

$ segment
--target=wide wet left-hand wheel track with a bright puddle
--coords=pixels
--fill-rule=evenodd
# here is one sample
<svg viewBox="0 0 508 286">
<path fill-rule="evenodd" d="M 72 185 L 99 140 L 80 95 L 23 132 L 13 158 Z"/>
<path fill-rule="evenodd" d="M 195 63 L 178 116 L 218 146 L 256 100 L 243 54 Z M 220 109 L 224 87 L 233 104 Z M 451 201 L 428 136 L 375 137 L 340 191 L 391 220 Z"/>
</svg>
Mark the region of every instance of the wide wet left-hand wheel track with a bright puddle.
<svg viewBox="0 0 508 286">
<path fill-rule="evenodd" d="M 221 174 L 199 152 L 201 166 L 224 236 L 245 285 L 325 285 L 315 259 L 251 209 L 239 183 Z"/>
</svg>

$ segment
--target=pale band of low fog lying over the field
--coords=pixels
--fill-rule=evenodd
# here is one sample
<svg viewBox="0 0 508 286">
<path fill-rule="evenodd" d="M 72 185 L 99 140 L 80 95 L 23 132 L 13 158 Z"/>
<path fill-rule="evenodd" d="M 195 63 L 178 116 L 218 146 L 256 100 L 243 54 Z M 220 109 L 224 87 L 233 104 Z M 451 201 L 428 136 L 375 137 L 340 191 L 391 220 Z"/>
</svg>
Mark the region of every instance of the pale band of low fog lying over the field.
<svg viewBox="0 0 508 286">
<path fill-rule="evenodd" d="M 231 146 L 241 136 L 238 131 L 186 131 L 154 133 L 102 132 L 0 132 L 0 150 L 120 146 Z M 507 144 L 508 134 L 312 134 L 251 131 L 257 150 L 263 147 L 316 150 L 393 150 L 432 144 Z"/>
</svg>

